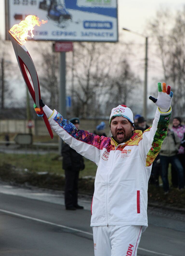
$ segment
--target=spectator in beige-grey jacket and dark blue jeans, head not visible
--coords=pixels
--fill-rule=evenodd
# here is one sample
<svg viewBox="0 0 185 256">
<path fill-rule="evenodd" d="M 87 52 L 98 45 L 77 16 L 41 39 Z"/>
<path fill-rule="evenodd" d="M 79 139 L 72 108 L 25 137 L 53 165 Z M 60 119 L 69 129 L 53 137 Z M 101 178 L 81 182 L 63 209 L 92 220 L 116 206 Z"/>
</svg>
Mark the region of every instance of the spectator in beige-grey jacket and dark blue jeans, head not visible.
<svg viewBox="0 0 185 256">
<path fill-rule="evenodd" d="M 180 139 L 176 133 L 172 130 L 167 130 L 167 136 L 163 141 L 160 150 L 160 164 L 161 164 L 161 178 L 163 180 L 163 189 L 165 194 L 169 192 L 169 182 L 168 182 L 168 167 L 169 163 L 174 167 L 175 171 L 178 174 L 178 184 L 179 189 L 184 188 L 184 175 L 183 175 L 183 167 L 177 153 L 180 147 Z"/>
</svg>

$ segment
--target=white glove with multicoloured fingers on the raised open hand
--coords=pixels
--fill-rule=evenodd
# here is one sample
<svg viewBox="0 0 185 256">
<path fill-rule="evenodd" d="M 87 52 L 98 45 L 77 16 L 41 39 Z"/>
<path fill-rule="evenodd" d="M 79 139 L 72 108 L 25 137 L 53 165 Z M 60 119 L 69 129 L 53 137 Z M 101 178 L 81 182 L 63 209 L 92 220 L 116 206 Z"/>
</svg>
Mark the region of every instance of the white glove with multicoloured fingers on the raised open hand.
<svg viewBox="0 0 185 256">
<path fill-rule="evenodd" d="M 150 96 L 149 99 L 152 100 L 156 106 L 159 107 L 161 112 L 168 112 L 171 105 L 171 100 L 173 98 L 173 92 L 170 92 L 171 87 L 168 86 L 166 90 L 166 83 L 163 83 L 163 90 L 161 88 L 161 83 L 158 83 L 158 98 Z"/>
</svg>

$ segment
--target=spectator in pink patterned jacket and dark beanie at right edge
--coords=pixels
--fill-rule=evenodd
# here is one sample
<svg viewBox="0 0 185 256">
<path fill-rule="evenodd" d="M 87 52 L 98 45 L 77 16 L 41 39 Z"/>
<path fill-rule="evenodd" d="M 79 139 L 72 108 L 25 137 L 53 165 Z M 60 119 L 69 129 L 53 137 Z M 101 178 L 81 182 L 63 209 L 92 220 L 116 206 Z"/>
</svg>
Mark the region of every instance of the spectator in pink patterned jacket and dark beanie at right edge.
<svg viewBox="0 0 185 256">
<path fill-rule="evenodd" d="M 185 126 L 181 124 L 182 120 L 179 116 L 173 118 L 173 126 L 172 130 L 177 134 L 180 141 L 182 141 L 184 133 L 185 133 Z M 178 158 L 185 170 L 185 158 L 184 158 L 184 147 L 181 145 L 178 151 Z M 185 175 L 185 172 L 184 172 Z M 174 167 L 171 168 L 171 182 L 173 187 L 178 187 L 178 174 Z"/>
</svg>

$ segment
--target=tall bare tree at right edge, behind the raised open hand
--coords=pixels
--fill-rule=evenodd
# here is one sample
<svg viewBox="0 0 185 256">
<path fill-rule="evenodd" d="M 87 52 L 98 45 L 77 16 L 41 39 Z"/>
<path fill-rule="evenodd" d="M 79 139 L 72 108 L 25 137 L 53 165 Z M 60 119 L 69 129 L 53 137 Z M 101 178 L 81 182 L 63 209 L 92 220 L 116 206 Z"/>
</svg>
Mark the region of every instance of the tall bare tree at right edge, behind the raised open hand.
<svg viewBox="0 0 185 256">
<path fill-rule="evenodd" d="M 175 97 L 173 113 L 183 115 L 185 107 L 185 8 L 174 16 L 161 10 L 150 23 L 149 29 L 157 40 L 164 79 L 171 85 Z"/>
</svg>

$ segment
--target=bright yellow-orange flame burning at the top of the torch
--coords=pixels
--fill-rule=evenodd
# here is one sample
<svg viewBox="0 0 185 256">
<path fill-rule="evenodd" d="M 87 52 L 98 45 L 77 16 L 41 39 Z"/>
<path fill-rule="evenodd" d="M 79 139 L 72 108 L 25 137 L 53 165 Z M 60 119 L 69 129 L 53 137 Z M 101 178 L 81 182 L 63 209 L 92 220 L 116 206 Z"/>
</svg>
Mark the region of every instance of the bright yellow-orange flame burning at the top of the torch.
<svg viewBox="0 0 185 256">
<path fill-rule="evenodd" d="M 27 37 L 30 37 L 28 33 L 31 33 L 31 37 L 33 37 L 33 29 L 34 26 L 37 25 L 40 27 L 41 24 L 47 23 L 47 20 L 39 21 L 39 18 L 35 15 L 28 15 L 25 20 L 21 20 L 19 24 L 15 24 L 12 28 L 10 28 L 9 33 L 18 41 L 19 44 L 25 44 Z"/>
</svg>

